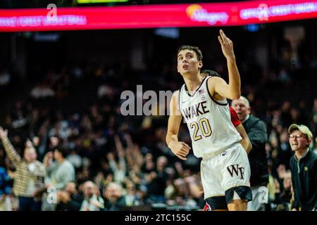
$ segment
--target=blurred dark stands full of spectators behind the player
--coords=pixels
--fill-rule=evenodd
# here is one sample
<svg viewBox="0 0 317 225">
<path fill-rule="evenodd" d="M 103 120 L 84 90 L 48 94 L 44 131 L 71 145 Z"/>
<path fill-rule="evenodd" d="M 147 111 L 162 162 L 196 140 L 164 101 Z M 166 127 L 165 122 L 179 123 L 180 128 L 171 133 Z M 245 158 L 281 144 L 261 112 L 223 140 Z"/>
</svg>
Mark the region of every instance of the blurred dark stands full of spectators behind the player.
<svg viewBox="0 0 317 225">
<path fill-rule="evenodd" d="M 266 210 L 289 210 L 292 202 L 293 153 L 287 127 L 306 124 L 313 132 L 311 149 L 317 151 L 313 27 L 316 20 L 259 25 L 256 32 L 248 27 L 224 29 L 234 43 L 242 94 L 249 99 L 251 114 L 263 120 L 268 131 Z M 125 101 L 120 94 L 135 92 L 137 84 L 157 93 L 180 88 L 176 53 L 182 44 L 199 46 L 204 69 L 216 70 L 228 81 L 218 29 L 177 31 L 176 39 L 151 29 L 0 34 L 0 125 L 21 157 L 34 146 L 46 169 L 34 196 L 35 203 L 42 200 L 41 210 L 204 207 L 200 161 L 192 153 L 180 161 L 166 146 L 168 116 L 120 113 Z M 184 124 L 179 139 L 190 143 Z M 13 181 L 23 167 L 11 160 L 4 142 L 0 210 L 19 210 Z M 54 158 L 70 162 L 65 171 L 54 167 Z M 44 204 L 49 198 L 53 204 Z"/>
</svg>

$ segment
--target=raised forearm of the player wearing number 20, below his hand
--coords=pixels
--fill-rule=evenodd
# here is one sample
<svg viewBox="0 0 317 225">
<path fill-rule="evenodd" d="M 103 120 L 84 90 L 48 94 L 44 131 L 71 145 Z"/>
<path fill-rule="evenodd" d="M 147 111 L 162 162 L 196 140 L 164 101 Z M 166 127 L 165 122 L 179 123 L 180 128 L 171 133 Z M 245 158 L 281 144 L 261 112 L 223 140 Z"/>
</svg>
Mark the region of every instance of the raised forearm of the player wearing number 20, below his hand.
<svg viewBox="0 0 317 225">
<path fill-rule="evenodd" d="M 235 56 L 227 58 L 228 73 L 229 73 L 229 86 L 228 92 L 230 97 L 233 99 L 240 98 L 241 95 L 241 81 L 239 70 L 235 62 Z"/>
</svg>

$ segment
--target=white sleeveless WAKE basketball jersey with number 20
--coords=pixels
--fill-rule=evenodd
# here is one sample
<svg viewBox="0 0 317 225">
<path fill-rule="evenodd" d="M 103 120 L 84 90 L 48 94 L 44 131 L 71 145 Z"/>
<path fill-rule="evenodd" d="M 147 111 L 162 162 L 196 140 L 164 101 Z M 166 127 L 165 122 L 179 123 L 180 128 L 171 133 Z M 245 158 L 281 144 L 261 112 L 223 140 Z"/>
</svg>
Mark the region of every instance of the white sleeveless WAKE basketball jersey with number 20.
<svg viewBox="0 0 317 225">
<path fill-rule="evenodd" d="M 192 96 L 183 84 L 178 99 L 180 112 L 192 138 L 194 155 L 198 158 L 225 150 L 242 140 L 231 122 L 228 101 L 216 101 L 209 94 L 209 78 L 205 77 Z"/>
</svg>

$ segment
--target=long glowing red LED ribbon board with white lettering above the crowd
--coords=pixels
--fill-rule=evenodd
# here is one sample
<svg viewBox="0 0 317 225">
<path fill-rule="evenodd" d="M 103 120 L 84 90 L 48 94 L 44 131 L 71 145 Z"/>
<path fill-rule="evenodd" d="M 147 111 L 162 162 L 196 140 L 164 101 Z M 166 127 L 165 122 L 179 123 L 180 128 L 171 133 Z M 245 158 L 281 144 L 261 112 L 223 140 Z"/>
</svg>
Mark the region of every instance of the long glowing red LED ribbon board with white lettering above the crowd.
<svg viewBox="0 0 317 225">
<path fill-rule="evenodd" d="M 0 32 L 208 27 L 317 18 L 317 1 L 0 10 Z"/>
</svg>

